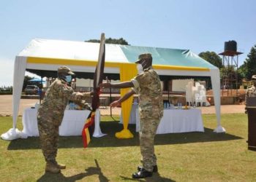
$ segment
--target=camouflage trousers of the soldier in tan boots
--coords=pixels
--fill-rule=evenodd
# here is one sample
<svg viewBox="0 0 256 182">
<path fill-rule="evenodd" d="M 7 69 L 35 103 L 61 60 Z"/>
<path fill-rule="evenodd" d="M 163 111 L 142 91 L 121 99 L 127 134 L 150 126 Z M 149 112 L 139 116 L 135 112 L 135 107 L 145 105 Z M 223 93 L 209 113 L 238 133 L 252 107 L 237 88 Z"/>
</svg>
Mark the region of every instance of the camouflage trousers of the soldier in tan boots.
<svg viewBox="0 0 256 182">
<path fill-rule="evenodd" d="M 39 141 L 46 162 L 56 160 L 59 142 L 59 126 L 42 117 L 38 121 Z"/>
</svg>

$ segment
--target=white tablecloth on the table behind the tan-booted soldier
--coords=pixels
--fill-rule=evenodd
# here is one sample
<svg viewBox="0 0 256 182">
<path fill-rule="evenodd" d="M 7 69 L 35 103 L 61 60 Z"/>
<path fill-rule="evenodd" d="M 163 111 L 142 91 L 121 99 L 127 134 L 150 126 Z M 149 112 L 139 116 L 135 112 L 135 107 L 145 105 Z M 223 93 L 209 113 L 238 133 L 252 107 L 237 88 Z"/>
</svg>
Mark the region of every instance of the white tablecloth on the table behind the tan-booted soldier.
<svg viewBox="0 0 256 182">
<path fill-rule="evenodd" d="M 64 118 L 62 120 L 61 126 L 59 127 L 59 135 L 61 136 L 77 136 L 81 135 L 83 126 L 86 122 L 87 117 L 91 111 L 83 110 L 65 110 Z M 99 112 L 95 116 L 95 128 L 97 135 L 102 134 L 99 128 Z M 28 136 L 39 136 L 37 127 L 37 109 L 36 108 L 26 108 L 23 112 L 22 117 L 23 131 Z M 99 136 L 95 136 L 99 137 Z"/>
</svg>

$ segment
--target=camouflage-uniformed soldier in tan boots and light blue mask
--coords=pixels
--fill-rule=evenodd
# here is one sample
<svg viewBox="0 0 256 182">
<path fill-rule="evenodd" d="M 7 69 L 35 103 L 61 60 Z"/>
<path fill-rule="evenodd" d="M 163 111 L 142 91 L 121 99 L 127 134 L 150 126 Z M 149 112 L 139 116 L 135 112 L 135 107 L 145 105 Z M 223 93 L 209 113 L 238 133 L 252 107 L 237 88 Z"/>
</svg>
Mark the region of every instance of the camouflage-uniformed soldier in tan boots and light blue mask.
<svg viewBox="0 0 256 182">
<path fill-rule="evenodd" d="M 37 112 L 37 122 L 39 130 L 39 141 L 42 148 L 42 154 L 45 157 L 45 171 L 50 173 L 59 173 L 61 169 L 65 169 L 65 165 L 56 162 L 59 141 L 59 126 L 61 125 L 64 110 L 69 100 L 85 100 L 90 97 L 92 92 L 74 92 L 69 87 L 72 75 L 67 66 L 58 68 L 58 78 L 50 84 L 45 93 Z"/>
</svg>

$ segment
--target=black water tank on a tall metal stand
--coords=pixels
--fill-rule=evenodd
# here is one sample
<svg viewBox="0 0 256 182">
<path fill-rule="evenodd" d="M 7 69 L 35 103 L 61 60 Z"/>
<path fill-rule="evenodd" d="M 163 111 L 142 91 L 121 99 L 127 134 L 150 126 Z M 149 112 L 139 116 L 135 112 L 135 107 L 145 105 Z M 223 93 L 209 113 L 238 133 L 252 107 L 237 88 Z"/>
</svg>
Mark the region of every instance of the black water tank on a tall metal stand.
<svg viewBox="0 0 256 182">
<path fill-rule="evenodd" d="M 223 90 L 227 90 L 227 96 L 232 95 L 232 90 L 236 88 L 236 96 L 238 92 L 238 55 L 243 52 L 237 52 L 236 41 L 225 41 L 224 52 L 222 55 L 223 74 L 222 74 L 222 95 Z"/>
</svg>

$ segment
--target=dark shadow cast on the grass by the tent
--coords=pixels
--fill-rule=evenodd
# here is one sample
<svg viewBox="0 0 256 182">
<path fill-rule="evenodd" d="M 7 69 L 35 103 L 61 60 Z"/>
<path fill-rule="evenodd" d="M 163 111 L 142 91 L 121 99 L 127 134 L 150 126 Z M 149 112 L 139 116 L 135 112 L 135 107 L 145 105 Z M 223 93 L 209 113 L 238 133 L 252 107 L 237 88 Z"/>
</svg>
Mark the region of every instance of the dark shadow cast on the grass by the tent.
<svg viewBox="0 0 256 182">
<path fill-rule="evenodd" d="M 118 122 L 102 122 L 101 128 L 105 135 L 101 138 L 91 138 L 89 147 L 115 147 L 115 146 L 139 146 L 138 132 L 135 131 L 135 124 L 129 124 L 129 130 L 134 134 L 134 138 L 118 139 L 115 133 L 123 129 L 123 125 Z M 205 132 L 184 132 L 156 135 L 155 145 L 230 141 L 243 139 L 228 133 L 216 133 L 212 129 L 205 128 Z M 59 149 L 83 148 L 81 136 L 69 136 L 59 138 Z M 39 138 L 29 137 L 11 141 L 8 150 L 39 149 Z"/>
</svg>

